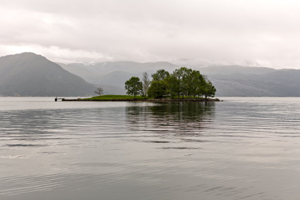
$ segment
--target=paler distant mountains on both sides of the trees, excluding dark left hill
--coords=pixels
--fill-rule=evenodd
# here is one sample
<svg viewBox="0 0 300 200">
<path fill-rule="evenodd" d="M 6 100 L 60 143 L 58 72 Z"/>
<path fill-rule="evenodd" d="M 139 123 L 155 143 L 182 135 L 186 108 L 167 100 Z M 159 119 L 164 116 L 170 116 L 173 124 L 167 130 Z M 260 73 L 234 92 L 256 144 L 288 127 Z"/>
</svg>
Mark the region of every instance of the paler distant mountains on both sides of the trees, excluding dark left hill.
<svg viewBox="0 0 300 200">
<path fill-rule="evenodd" d="M 143 72 L 154 73 L 158 69 L 173 72 L 180 68 L 168 62 L 135 63 L 130 61 L 103 62 L 85 66 L 68 64 L 62 67 L 93 84 L 105 85 L 106 94 L 117 91 L 125 94 L 125 81 L 131 76 L 141 77 Z M 237 65 L 192 67 L 208 75 L 215 85 L 217 97 L 300 97 L 297 70 Z M 111 86 L 108 88 L 107 86 Z"/>
</svg>

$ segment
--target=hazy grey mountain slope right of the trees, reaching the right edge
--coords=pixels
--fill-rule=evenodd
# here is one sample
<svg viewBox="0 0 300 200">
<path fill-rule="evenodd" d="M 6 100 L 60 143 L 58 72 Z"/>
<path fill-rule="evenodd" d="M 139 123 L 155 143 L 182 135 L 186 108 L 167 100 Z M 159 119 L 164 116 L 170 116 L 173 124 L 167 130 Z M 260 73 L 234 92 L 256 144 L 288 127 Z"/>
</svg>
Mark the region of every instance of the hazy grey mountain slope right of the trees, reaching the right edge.
<svg viewBox="0 0 300 200">
<path fill-rule="evenodd" d="M 264 75 L 209 75 L 219 97 L 300 97 L 300 70 Z"/>
</svg>

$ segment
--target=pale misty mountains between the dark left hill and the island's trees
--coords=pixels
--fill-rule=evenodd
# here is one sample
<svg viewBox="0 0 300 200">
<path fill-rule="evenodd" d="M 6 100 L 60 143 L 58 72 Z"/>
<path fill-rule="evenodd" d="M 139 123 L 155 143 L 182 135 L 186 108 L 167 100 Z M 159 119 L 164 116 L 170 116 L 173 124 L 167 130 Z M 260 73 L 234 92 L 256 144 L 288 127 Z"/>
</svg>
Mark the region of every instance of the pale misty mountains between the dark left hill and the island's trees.
<svg viewBox="0 0 300 200">
<path fill-rule="evenodd" d="M 132 61 L 101 62 L 95 65 L 82 63 L 57 63 L 72 74 L 82 77 L 89 83 L 101 86 L 104 94 L 125 95 L 125 81 L 131 76 L 140 77 L 143 72 L 152 74 L 159 69 L 173 72 L 179 68 L 169 62 L 137 63 Z"/>
</svg>

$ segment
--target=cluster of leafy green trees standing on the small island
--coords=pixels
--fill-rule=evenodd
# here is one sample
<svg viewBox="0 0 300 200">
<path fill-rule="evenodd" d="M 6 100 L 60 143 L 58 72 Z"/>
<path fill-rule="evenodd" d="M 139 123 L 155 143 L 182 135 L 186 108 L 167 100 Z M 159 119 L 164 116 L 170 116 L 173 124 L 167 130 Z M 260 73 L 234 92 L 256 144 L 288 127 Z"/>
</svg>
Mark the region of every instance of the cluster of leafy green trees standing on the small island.
<svg viewBox="0 0 300 200">
<path fill-rule="evenodd" d="M 158 70 L 151 75 L 149 81 L 147 73 L 143 74 L 142 81 L 138 77 L 131 77 L 125 82 L 128 95 L 139 95 L 161 98 L 196 98 L 214 97 L 216 89 L 206 75 L 199 71 L 182 67 L 172 74 L 165 70 Z M 150 86 L 149 86 L 150 85 Z"/>
</svg>

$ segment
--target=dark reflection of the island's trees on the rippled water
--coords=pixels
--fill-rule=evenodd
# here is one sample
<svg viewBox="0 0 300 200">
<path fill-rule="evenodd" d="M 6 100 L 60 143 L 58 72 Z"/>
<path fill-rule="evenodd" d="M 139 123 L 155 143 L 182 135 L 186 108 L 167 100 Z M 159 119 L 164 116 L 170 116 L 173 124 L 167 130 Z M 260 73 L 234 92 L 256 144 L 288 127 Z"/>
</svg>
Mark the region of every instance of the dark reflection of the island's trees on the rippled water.
<svg viewBox="0 0 300 200">
<path fill-rule="evenodd" d="M 215 102 L 132 103 L 126 107 L 128 129 L 160 137 L 200 136 L 214 120 Z M 184 138 L 180 138 L 184 139 Z"/>
</svg>

